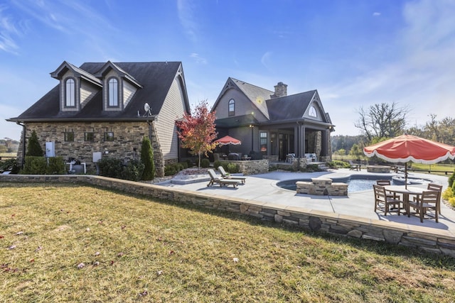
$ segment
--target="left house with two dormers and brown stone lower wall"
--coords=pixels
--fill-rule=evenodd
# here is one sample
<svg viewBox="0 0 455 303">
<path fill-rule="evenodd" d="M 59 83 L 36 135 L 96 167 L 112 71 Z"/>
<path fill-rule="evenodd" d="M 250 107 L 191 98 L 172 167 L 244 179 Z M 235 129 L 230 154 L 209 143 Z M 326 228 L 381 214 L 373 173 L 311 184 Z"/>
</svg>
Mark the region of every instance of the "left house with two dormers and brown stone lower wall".
<svg viewBox="0 0 455 303">
<path fill-rule="evenodd" d="M 149 136 L 158 176 L 178 161 L 176 119 L 190 112 L 181 62 L 63 62 L 50 76 L 58 85 L 14 121 L 23 126 L 18 160 L 36 131 L 46 156 L 85 162 L 140 157 Z"/>
</svg>

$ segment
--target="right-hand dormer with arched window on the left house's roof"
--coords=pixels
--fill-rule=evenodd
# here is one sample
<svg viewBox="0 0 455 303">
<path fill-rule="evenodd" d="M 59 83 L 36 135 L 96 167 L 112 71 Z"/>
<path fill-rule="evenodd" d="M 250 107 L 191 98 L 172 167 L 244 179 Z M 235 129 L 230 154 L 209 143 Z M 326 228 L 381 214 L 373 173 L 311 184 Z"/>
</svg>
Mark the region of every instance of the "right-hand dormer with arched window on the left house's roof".
<svg viewBox="0 0 455 303">
<path fill-rule="evenodd" d="M 110 61 L 106 62 L 95 76 L 100 78 L 103 84 L 103 110 L 105 111 L 122 111 L 137 89 L 142 88 L 132 75 Z"/>
</svg>

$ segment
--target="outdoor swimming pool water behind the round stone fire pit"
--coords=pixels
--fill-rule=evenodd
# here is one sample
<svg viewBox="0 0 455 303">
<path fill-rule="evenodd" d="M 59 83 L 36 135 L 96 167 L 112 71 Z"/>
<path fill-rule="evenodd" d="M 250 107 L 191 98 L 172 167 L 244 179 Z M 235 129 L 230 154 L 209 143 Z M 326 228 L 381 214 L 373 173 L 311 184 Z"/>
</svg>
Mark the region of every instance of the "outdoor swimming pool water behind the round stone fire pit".
<svg viewBox="0 0 455 303">
<path fill-rule="evenodd" d="M 363 176 L 363 175 L 353 175 L 350 177 L 344 178 L 333 178 L 333 182 L 343 182 L 348 184 L 348 193 L 350 192 L 363 192 L 364 190 L 373 189 L 373 184 L 376 184 L 376 180 L 390 180 L 390 184 L 392 185 L 403 185 L 405 181 L 401 182 L 400 179 L 395 177 L 375 177 L 372 176 Z M 296 190 L 296 182 L 297 181 L 306 181 L 311 182 L 311 180 L 285 180 L 277 183 L 278 187 L 283 189 L 289 190 Z M 408 184 L 424 184 L 424 183 L 431 183 L 432 180 L 428 179 L 417 179 L 408 177 Z"/>
</svg>

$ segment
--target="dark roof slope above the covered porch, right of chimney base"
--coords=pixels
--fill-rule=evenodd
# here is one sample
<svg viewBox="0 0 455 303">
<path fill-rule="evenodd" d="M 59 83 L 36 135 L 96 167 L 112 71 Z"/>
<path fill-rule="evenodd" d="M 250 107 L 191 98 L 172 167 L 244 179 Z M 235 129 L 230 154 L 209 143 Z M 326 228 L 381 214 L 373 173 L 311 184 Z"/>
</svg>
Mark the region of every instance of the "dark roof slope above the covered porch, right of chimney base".
<svg viewBox="0 0 455 303">
<path fill-rule="evenodd" d="M 311 100 L 313 100 L 316 90 L 292 94 L 286 97 L 267 100 L 270 121 L 287 121 L 301 119 Z"/>
</svg>

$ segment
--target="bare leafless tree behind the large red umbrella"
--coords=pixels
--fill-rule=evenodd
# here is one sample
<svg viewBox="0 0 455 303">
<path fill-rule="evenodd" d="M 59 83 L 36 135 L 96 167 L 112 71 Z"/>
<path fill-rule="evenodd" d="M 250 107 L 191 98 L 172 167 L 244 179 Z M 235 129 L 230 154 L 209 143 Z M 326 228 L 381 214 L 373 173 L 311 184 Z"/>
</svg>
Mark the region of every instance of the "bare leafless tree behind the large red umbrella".
<svg viewBox="0 0 455 303">
<path fill-rule="evenodd" d="M 367 110 L 360 107 L 360 119 L 355 127 L 365 134 L 368 141 L 373 138 L 392 138 L 405 132 L 407 107 L 398 107 L 392 104 L 373 104 Z"/>
</svg>

